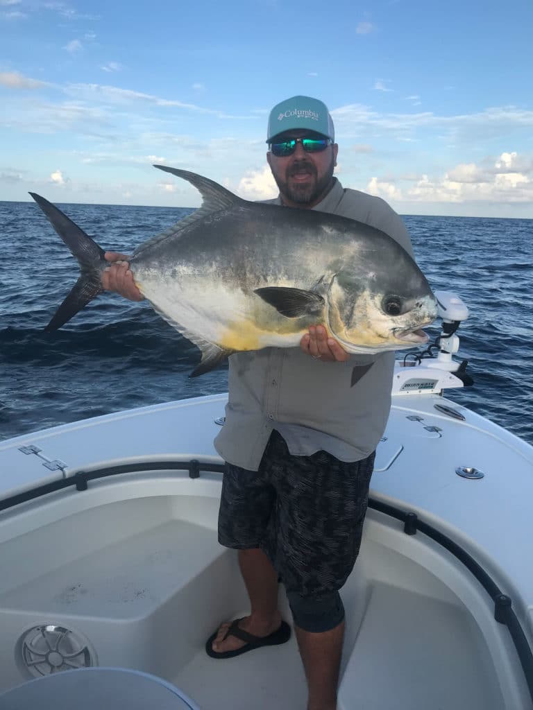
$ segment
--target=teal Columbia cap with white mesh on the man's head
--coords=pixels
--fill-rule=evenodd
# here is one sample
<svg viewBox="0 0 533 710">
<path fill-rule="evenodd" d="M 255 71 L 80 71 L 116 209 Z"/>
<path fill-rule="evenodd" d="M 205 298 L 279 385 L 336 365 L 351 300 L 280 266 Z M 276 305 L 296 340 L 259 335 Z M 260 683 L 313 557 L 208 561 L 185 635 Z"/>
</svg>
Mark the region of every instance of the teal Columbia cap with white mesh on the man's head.
<svg viewBox="0 0 533 710">
<path fill-rule="evenodd" d="M 266 129 L 266 143 L 274 136 L 294 129 L 308 129 L 331 138 L 335 143 L 335 128 L 328 107 L 318 99 L 308 96 L 294 96 L 276 104 L 270 111 Z"/>
</svg>

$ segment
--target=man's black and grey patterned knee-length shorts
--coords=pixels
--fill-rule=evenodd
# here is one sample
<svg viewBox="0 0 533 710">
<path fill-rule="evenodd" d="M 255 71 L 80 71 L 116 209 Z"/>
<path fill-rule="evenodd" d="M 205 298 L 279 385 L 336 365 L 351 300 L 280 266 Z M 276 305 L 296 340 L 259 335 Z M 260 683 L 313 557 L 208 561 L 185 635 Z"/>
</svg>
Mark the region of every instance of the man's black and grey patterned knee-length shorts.
<svg viewBox="0 0 533 710">
<path fill-rule="evenodd" d="M 274 430 L 259 471 L 226 464 L 220 544 L 260 547 L 287 591 L 315 598 L 338 591 L 359 553 L 374 459 L 291 456 Z"/>
</svg>

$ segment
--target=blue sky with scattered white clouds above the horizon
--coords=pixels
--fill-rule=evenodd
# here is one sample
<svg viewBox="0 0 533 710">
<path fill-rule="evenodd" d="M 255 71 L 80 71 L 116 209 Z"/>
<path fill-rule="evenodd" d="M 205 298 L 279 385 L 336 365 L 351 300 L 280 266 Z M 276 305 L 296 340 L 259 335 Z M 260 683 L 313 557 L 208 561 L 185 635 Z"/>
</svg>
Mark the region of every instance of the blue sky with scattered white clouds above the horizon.
<svg viewBox="0 0 533 710">
<path fill-rule="evenodd" d="M 333 115 L 345 187 L 401 214 L 533 217 L 531 0 L 0 0 L 0 200 L 276 194 L 269 109 Z"/>
</svg>

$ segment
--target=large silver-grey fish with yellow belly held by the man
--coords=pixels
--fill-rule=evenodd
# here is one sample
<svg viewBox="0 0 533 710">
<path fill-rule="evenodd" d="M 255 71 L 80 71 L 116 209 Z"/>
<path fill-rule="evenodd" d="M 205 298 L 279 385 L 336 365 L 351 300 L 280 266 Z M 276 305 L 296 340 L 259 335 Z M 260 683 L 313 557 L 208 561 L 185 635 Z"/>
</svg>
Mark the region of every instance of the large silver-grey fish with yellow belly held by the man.
<svg viewBox="0 0 533 710">
<path fill-rule="evenodd" d="M 323 324 L 349 353 L 427 342 L 436 299 L 419 267 L 392 237 L 367 224 L 311 209 L 249 202 L 187 170 L 201 207 L 138 246 L 134 282 L 152 307 L 202 352 L 192 376 L 239 351 L 298 346 Z M 45 330 L 60 328 L 102 293 L 109 263 L 63 212 L 30 192 L 80 264 L 80 277 Z"/>
</svg>

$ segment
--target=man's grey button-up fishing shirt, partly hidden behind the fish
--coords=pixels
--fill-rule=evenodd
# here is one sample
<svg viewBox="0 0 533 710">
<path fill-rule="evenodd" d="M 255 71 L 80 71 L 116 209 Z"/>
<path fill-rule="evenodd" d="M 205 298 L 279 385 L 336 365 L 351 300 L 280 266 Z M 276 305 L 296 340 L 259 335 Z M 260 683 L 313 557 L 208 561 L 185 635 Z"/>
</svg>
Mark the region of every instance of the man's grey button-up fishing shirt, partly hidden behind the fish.
<svg viewBox="0 0 533 710">
<path fill-rule="evenodd" d="M 279 198 L 269 202 L 281 204 Z M 402 219 L 379 197 L 345 190 L 335 179 L 328 195 L 313 209 L 370 224 L 413 256 Z M 392 352 L 354 354 L 343 363 L 313 359 L 299 348 L 234 354 L 226 422 L 215 448 L 225 461 L 257 471 L 276 429 L 291 454 L 310 455 L 323 449 L 343 461 L 364 459 L 374 451 L 387 424 L 393 370 Z"/>
</svg>

